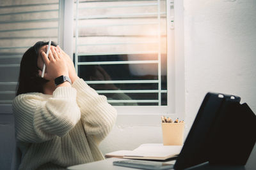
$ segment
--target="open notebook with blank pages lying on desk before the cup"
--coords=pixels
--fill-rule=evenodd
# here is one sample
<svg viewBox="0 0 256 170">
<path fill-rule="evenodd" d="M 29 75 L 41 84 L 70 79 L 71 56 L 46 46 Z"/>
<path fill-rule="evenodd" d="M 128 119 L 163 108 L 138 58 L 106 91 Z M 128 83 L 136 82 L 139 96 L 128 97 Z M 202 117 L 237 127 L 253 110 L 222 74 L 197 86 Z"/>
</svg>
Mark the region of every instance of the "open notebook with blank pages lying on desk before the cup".
<svg viewBox="0 0 256 170">
<path fill-rule="evenodd" d="M 163 143 L 142 144 L 135 150 L 118 150 L 107 153 L 106 158 L 166 160 L 179 155 L 182 145 L 164 146 Z"/>
</svg>

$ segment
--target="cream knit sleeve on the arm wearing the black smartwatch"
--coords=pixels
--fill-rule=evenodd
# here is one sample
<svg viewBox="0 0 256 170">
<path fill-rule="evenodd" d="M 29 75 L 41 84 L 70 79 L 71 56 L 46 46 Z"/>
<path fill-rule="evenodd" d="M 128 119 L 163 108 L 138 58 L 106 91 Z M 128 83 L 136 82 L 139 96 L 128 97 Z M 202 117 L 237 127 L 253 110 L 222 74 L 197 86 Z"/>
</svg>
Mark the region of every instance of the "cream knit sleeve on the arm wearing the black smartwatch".
<svg viewBox="0 0 256 170">
<path fill-rule="evenodd" d="M 13 100 L 16 138 L 29 143 L 65 136 L 79 121 L 76 89 L 58 87 L 51 97 L 20 94 Z"/>
</svg>

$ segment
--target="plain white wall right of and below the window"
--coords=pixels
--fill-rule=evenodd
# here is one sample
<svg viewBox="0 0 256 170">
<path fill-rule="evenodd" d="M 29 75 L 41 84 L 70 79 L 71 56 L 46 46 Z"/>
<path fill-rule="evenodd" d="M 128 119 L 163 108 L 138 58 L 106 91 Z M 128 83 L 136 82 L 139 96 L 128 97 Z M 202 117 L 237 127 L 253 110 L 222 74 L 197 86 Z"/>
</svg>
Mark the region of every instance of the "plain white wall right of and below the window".
<svg viewBox="0 0 256 170">
<path fill-rule="evenodd" d="M 240 96 L 256 113 L 255 9 L 255 0 L 184 0 L 186 134 L 209 91 Z M 102 152 L 161 143 L 159 121 L 152 119 L 119 116 Z"/>
</svg>

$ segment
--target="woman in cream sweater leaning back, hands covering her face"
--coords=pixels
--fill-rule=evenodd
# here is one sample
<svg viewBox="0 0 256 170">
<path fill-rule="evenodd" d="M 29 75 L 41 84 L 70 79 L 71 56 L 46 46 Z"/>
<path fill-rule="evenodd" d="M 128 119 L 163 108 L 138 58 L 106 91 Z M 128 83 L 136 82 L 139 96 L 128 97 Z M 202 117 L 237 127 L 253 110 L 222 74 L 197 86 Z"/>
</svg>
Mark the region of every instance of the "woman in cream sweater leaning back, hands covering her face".
<svg viewBox="0 0 256 170">
<path fill-rule="evenodd" d="M 63 169 L 102 160 L 98 146 L 115 124 L 116 110 L 77 76 L 60 46 L 53 43 L 47 57 L 47 44 L 36 43 L 20 62 L 13 100 L 19 169 Z M 63 76 L 70 82 L 54 81 Z"/>
</svg>

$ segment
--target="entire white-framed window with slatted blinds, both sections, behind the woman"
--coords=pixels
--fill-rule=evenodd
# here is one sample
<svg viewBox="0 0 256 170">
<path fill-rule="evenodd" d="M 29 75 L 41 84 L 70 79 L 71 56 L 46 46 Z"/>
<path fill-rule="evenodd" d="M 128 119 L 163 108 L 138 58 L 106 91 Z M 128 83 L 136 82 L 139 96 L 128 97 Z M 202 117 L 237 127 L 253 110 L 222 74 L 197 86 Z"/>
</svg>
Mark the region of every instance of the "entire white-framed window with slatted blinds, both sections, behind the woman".
<svg viewBox="0 0 256 170">
<path fill-rule="evenodd" d="M 79 76 L 107 96 L 119 114 L 184 114 L 182 4 L 1 1 L 1 113 L 12 113 L 23 53 L 36 41 L 51 38 L 73 57 Z"/>
</svg>

